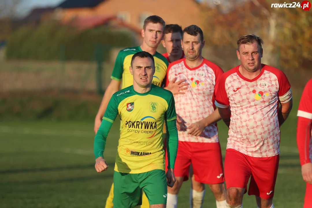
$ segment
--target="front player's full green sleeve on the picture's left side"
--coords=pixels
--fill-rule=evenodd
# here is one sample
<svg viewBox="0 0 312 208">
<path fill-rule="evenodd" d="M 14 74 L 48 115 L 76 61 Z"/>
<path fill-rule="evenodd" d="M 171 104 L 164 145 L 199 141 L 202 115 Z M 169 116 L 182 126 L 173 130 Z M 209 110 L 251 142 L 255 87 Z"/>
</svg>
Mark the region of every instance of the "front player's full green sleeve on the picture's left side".
<svg viewBox="0 0 312 208">
<path fill-rule="evenodd" d="M 103 157 L 106 138 L 117 115 L 118 115 L 118 104 L 116 101 L 116 96 L 113 95 L 112 98 L 110 99 L 110 102 L 107 105 L 102 123 L 94 138 L 93 150 L 95 159 L 98 157 Z"/>
</svg>

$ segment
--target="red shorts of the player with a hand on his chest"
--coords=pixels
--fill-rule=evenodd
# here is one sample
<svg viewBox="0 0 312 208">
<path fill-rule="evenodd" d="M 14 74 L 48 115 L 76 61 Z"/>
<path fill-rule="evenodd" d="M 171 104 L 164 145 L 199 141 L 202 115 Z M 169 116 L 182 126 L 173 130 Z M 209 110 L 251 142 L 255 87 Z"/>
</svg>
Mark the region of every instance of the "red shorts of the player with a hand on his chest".
<svg viewBox="0 0 312 208">
<path fill-rule="evenodd" d="M 220 143 L 181 142 L 174 164 L 174 176 L 188 180 L 192 163 L 194 179 L 205 184 L 219 184 L 225 181 Z M 167 172 L 168 158 L 165 155 Z"/>
</svg>

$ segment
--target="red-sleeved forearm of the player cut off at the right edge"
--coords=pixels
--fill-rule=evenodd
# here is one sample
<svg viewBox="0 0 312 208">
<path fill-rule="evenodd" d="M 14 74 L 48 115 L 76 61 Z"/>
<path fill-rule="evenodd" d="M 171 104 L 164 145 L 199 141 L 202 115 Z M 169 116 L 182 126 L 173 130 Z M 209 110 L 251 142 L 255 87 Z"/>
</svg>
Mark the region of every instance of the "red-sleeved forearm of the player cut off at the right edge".
<svg viewBox="0 0 312 208">
<path fill-rule="evenodd" d="M 312 120 L 298 117 L 297 123 L 297 146 L 301 166 L 311 162 L 310 160 L 310 139 Z"/>
</svg>

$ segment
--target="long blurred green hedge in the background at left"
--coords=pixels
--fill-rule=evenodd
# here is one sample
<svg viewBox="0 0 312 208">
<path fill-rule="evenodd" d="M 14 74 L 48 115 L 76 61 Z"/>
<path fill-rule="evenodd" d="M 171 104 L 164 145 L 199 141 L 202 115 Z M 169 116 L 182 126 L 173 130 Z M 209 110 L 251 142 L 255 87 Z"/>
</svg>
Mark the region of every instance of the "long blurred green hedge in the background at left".
<svg viewBox="0 0 312 208">
<path fill-rule="evenodd" d="M 130 31 L 98 27 L 79 31 L 48 22 L 38 27 L 24 26 L 12 33 L 7 41 L 8 60 L 106 60 L 112 47 L 137 45 Z M 99 57 L 100 56 L 100 57 Z"/>
</svg>

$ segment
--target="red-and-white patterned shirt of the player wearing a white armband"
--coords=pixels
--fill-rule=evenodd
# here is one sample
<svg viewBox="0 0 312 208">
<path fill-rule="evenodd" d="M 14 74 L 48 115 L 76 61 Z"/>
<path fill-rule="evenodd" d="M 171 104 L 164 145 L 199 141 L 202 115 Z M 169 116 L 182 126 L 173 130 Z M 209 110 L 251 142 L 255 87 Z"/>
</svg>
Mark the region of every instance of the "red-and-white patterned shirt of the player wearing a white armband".
<svg viewBox="0 0 312 208">
<path fill-rule="evenodd" d="M 271 157 L 280 153 L 279 101 L 292 98 L 286 75 L 262 64 L 252 80 L 239 72 L 239 66 L 225 72 L 217 89 L 215 104 L 231 109 L 227 149 L 252 157 Z"/>
</svg>

